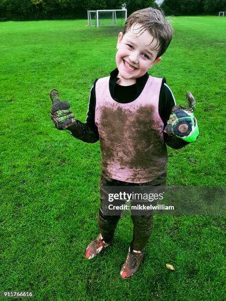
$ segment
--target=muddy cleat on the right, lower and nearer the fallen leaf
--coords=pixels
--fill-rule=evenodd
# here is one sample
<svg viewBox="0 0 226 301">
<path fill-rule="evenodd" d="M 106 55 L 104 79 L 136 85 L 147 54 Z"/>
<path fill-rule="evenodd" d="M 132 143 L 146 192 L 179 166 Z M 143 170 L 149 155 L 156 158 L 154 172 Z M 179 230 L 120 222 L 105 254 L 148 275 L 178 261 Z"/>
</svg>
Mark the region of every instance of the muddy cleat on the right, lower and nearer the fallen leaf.
<svg viewBox="0 0 226 301">
<path fill-rule="evenodd" d="M 125 260 L 122 266 L 120 275 L 123 278 L 129 278 L 132 275 L 134 275 L 135 272 L 139 270 L 143 258 L 144 258 L 144 251 L 133 250 L 132 252 L 130 252 L 130 247 L 129 247 L 127 259 Z"/>
</svg>

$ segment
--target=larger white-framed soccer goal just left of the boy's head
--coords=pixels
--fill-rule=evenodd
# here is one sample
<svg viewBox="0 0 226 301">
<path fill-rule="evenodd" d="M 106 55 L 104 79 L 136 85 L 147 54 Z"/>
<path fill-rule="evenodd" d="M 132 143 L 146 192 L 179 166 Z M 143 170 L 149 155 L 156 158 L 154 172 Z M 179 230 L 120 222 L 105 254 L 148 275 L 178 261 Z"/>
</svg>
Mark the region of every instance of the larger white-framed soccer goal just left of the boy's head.
<svg viewBox="0 0 226 301">
<path fill-rule="evenodd" d="M 87 13 L 88 26 L 124 26 L 127 20 L 127 9 L 88 10 Z"/>
</svg>

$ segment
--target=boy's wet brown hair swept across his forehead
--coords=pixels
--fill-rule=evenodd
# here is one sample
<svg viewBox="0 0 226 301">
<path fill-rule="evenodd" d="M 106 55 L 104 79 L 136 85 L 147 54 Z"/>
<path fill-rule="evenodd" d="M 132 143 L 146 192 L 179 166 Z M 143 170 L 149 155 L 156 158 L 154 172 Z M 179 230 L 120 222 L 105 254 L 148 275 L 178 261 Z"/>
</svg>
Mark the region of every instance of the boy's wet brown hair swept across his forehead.
<svg viewBox="0 0 226 301">
<path fill-rule="evenodd" d="M 148 30 L 153 36 L 153 39 L 157 39 L 157 44 L 153 50 L 160 47 L 156 58 L 158 59 L 166 51 L 172 40 L 172 26 L 167 22 L 164 13 L 160 9 L 148 7 L 137 10 L 129 16 L 125 23 L 123 35 L 132 27 L 132 25 L 134 27 L 137 23 L 141 25 L 138 28 L 138 33 L 142 34 L 145 30 Z"/>
</svg>

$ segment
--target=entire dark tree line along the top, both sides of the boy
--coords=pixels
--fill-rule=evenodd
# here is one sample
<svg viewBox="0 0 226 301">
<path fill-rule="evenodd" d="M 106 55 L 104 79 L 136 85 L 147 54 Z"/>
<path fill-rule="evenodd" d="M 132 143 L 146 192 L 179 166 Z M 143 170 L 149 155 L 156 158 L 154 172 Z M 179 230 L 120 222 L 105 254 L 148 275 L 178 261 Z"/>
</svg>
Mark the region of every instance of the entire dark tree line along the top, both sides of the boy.
<svg viewBox="0 0 226 301">
<path fill-rule="evenodd" d="M 157 7 L 154 0 L 0 0 L 0 21 L 87 18 L 87 10 L 121 9 L 128 16 L 135 10 Z M 216 14 L 224 11 L 226 0 L 164 0 L 166 15 Z"/>
</svg>

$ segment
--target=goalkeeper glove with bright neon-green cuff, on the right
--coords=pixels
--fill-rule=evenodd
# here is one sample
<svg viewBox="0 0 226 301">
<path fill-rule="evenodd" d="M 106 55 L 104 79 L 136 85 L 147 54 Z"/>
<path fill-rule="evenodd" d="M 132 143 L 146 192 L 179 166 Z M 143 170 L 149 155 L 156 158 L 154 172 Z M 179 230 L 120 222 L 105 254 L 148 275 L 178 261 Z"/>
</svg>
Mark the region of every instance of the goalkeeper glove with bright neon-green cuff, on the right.
<svg viewBox="0 0 226 301">
<path fill-rule="evenodd" d="M 194 142 L 199 134 L 197 120 L 194 117 L 196 101 L 190 91 L 186 94 L 185 108 L 174 106 L 164 132 L 175 135 L 187 142 Z M 186 108 L 187 107 L 187 108 Z"/>
</svg>

